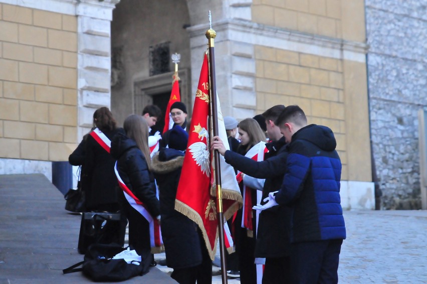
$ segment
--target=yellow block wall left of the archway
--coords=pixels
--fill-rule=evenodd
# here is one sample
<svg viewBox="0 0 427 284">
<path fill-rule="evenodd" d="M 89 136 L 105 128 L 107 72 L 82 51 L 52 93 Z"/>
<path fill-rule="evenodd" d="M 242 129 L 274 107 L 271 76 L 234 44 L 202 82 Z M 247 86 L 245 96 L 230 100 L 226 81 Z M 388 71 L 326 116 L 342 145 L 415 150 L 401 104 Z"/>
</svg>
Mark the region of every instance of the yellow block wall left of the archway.
<svg viewBox="0 0 427 284">
<path fill-rule="evenodd" d="M 0 5 L 0 158 L 67 161 L 77 142 L 77 18 Z"/>
</svg>

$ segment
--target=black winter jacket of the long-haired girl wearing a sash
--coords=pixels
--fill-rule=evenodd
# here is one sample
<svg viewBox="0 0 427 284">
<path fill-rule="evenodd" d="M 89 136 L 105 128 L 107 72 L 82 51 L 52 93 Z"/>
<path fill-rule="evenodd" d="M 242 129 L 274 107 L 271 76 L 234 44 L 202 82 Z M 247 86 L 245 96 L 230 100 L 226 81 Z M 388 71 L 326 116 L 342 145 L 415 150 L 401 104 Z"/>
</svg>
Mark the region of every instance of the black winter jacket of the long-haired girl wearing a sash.
<svg viewBox="0 0 427 284">
<path fill-rule="evenodd" d="M 129 190 L 144 203 L 153 218 L 160 215 L 154 177 L 135 141 L 123 133 L 117 134 L 111 141 L 111 156 L 117 159 L 117 171 Z"/>
</svg>

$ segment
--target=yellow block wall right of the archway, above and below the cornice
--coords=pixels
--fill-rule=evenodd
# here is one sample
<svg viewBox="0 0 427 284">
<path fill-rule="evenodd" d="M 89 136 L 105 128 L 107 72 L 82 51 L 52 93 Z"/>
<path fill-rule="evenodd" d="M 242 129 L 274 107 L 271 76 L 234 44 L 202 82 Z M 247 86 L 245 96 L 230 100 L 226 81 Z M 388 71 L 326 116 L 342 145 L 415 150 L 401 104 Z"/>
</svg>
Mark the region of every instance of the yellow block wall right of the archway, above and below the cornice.
<svg viewBox="0 0 427 284">
<path fill-rule="evenodd" d="M 254 0 L 252 21 L 365 43 L 363 0 Z M 257 113 L 297 104 L 309 123 L 330 127 L 343 164 L 342 180 L 372 181 L 366 64 L 256 47 Z"/>
</svg>

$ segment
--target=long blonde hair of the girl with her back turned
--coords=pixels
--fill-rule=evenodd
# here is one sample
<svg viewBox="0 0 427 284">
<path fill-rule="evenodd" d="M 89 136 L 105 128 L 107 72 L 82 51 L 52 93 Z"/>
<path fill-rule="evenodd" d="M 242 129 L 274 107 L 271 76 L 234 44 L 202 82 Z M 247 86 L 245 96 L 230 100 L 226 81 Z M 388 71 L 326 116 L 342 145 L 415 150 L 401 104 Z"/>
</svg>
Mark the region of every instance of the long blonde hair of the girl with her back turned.
<svg viewBox="0 0 427 284">
<path fill-rule="evenodd" d="M 145 162 L 147 162 L 148 169 L 151 170 L 151 156 L 148 147 L 148 124 L 145 119 L 136 114 L 131 114 L 126 117 L 123 128 L 126 135 L 136 142 L 136 145 L 144 154 Z"/>
</svg>

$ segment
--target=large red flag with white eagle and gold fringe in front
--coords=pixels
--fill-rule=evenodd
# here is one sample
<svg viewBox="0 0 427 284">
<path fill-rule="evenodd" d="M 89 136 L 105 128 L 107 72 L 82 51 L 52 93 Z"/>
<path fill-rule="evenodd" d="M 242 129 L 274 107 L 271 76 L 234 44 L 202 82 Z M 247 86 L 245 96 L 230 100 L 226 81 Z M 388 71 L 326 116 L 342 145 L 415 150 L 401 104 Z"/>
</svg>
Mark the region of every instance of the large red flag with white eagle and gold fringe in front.
<svg viewBox="0 0 427 284">
<path fill-rule="evenodd" d="M 176 192 L 175 209 L 191 220 L 200 228 L 210 258 L 215 258 L 218 240 L 217 201 L 215 191 L 211 191 L 211 153 L 209 143 L 209 78 L 208 61 L 204 55 L 200 77 L 197 85 L 187 150 L 182 165 L 181 177 Z M 218 110 L 221 113 L 221 110 Z M 224 128 L 224 122 L 218 117 L 219 127 Z M 220 128 L 220 130 L 222 130 Z M 226 143 L 227 136 L 223 141 Z M 228 146 L 228 143 L 227 143 Z M 222 157 L 222 156 L 221 156 Z M 224 157 L 223 157 L 224 159 Z M 224 161 L 224 164 L 225 161 Z M 226 219 L 230 218 L 242 203 L 242 195 L 238 190 L 233 168 L 224 165 L 224 169 L 232 173 L 232 186 L 223 187 L 223 212 Z M 223 173 L 223 165 L 221 165 Z M 227 176 L 227 174 L 225 174 Z M 225 177 L 222 176 L 225 181 Z M 235 185 L 235 186 L 234 186 Z"/>
</svg>

